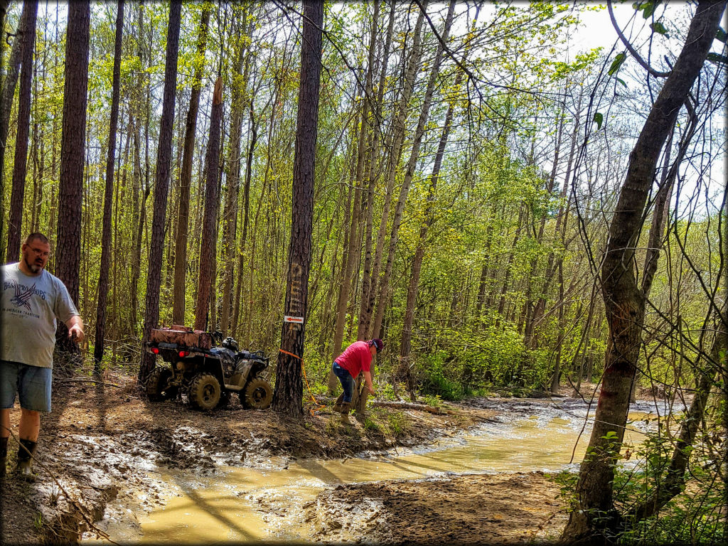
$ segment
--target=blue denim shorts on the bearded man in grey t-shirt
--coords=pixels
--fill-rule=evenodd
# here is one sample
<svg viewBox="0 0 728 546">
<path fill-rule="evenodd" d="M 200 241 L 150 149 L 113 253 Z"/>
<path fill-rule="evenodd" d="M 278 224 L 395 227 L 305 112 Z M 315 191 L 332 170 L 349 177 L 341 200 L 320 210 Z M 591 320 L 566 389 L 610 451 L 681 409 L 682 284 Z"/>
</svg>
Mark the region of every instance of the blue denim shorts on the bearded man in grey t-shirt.
<svg viewBox="0 0 728 546">
<path fill-rule="evenodd" d="M 20 407 L 50 412 L 51 368 L 0 360 L 0 408 L 12 408 L 15 393 Z"/>
</svg>

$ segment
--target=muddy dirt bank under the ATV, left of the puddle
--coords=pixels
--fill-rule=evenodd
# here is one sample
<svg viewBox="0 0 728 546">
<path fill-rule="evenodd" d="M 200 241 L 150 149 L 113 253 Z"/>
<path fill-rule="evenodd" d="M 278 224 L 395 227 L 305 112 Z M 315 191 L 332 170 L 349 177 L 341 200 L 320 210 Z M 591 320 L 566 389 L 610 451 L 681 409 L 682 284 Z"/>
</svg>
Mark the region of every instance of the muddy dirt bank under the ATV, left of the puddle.
<svg viewBox="0 0 728 546">
<path fill-rule="evenodd" d="M 19 414 L 16 407 L 15 435 Z M 346 427 L 328 407 L 310 405 L 300 420 L 246 411 L 237 400 L 200 413 L 179 400 L 149 403 L 135 377 L 118 371 L 102 382 L 56 373 L 52 413 L 41 421 L 38 479 L 25 483 L 9 474 L 2 486 L 1 542 L 77 542 L 117 496 L 149 511 L 160 502 L 159 484 L 147 474 L 154 467 L 205 473 L 218 464 L 264 464 L 270 456 L 341 458 L 432 443 L 492 415 L 463 405 L 449 406 L 447 414 L 373 408 L 368 419 Z M 9 468 L 16 451 L 11 438 Z"/>
</svg>

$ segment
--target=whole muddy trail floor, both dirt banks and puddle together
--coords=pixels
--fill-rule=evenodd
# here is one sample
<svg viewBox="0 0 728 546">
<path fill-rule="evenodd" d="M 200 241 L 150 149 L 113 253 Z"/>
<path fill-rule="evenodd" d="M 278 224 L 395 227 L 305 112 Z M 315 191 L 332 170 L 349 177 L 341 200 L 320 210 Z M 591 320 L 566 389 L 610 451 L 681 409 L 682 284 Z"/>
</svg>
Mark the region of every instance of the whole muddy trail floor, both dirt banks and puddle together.
<svg viewBox="0 0 728 546">
<path fill-rule="evenodd" d="M 244 410 L 237 400 L 201 413 L 181 400 L 149 403 L 123 373 L 107 372 L 102 383 L 59 375 L 53 411 L 41 423 L 38 480 L 9 476 L 3 484 L 2 543 L 102 543 L 106 531 L 116 542 L 154 543 L 550 539 L 566 513 L 544 471 L 568 464 L 567 438 L 578 435 L 585 408 L 573 399 L 481 398 L 443 405 L 441 414 L 373 407 L 345 426 L 313 403 L 303 420 Z M 550 453 L 531 431 L 555 412 L 563 436 Z M 508 432 L 514 419 L 525 423 L 520 437 Z M 498 438 L 513 456 L 502 446 L 488 452 Z M 529 440 L 545 455 L 535 465 L 519 459 Z M 9 466 L 12 439 L 10 446 Z M 478 460 L 459 446 L 475 446 Z M 510 462 L 490 467 L 491 459 Z M 370 466 L 352 470 L 362 464 Z M 415 471 L 389 472 L 396 466 Z M 309 479 L 317 482 L 299 488 Z M 193 510 L 194 525 L 181 510 Z M 183 523 L 174 523 L 177 531 L 160 524 L 155 534 L 165 513 Z"/>
</svg>

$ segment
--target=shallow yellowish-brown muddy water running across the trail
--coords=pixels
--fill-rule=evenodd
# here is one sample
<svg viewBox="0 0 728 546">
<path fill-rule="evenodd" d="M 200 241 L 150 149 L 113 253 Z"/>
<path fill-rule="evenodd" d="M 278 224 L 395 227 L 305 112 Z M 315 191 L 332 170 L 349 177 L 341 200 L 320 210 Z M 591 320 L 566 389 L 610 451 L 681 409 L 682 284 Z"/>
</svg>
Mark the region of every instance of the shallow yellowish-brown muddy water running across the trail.
<svg viewBox="0 0 728 546">
<path fill-rule="evenodd" d="M 149 472 L 157 491 L 151 494 L 153 503 L 146 502 L 148 492 L 132 491 L 131 499 L 109 505 L 98 526 L 121 543 L 306 542 L 311 524 L 304 520 L 304 508 L 321 491 L 340 484 L 577 470 L 591 429 L 585 404 L 569 399 L 480 400 L 475 405 L 493 408 L 497 418 L 427 448 L 334 460 L 274 457 L 250 467 L 216 467 L 207 475 L 158 467 Z M 633 405 L 624 449 L 635 451 L 665 409 Z M 140 505 L 146 509 L 139 510 Z"/>
</svg>

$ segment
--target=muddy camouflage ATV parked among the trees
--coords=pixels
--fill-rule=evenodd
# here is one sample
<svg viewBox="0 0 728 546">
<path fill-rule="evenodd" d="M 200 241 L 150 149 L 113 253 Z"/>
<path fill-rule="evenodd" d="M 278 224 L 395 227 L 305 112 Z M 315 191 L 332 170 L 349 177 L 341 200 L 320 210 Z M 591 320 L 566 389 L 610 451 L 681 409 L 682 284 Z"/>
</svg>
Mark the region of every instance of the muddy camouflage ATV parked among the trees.
<svg viewBox="0 0 728 546">
<path fill-rule="evenodd" d="M 213 342 L 217 341 L 217 344 Z M 233 393 L 244 408 L 271 405 L 269 359 L 262 352 L 241 351 L 231 337 L 183 326 L 151 331 L 146 351 L 169 365 L 157 365 L 146 379 L 149 400 L 170 400 L 186 394 L 199 410 L 224 408 Z"/>
</svg>

